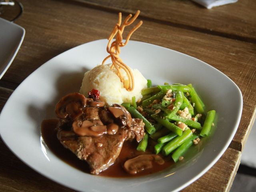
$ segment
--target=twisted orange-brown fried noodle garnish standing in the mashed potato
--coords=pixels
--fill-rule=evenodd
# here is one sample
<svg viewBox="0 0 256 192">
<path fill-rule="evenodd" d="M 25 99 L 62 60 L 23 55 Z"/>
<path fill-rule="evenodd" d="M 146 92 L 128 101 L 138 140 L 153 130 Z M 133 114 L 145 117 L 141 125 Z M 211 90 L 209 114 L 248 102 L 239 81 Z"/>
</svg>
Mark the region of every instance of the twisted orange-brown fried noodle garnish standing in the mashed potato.
<svg viewBox="0 0 256 192">
<path fill-rule="evenodd" d="M 106 60 L 108 58 L 111 58 L 112 65 L 110 68 L 112 70 L 116 68 L 116 74 L 120 78 L 121 82 L 124 84 L 124 88 L 126 88 L 126 90 L 128 91 L 132 91 L 134 89 L 134 77 L 130 68 L 126 64 L 124 64 L 124 62 L 122 62 L 122 59 L 119 57 L 119 54 L 120 54 L 120 47 L 125 46 L 130 40 L 130 37 L 132 36 L 132 34 L 142 25 L 143 23 L 142 21 L 138 22 L 138 24 L 136 24 L 136 26 L 134 26 L 134 28 L 132 28 L 132 30 L 130 30 L 130 32 L 128 33 L 125 42 L 124 43 L 122 42 L 123 40 L 122 34 L 124 32 L 124 28 L 132 24 L 136 20 L 139 14 L 140 14 L 140 10 L 136 12 L 134 17 L 132 17 L 132 14 L 129 14 L 125 18 L 123 24 L 121 24 L 122 13 L 118 14 L 118 23 L 114 26 L 114 29 L 112 30 L 110 36 L 108 37 L 107 52 L 109 53 L 109 56 L 107 56 L 102 61 L 102 65 L 104 65 Z M 116 36 L 116 40 L 112 42 L 115 36 Z M 124 78 L 120 72 L 121 68 L 126 72 L 128 76 L 128 83 L 124 82 Z"/>
</svg>

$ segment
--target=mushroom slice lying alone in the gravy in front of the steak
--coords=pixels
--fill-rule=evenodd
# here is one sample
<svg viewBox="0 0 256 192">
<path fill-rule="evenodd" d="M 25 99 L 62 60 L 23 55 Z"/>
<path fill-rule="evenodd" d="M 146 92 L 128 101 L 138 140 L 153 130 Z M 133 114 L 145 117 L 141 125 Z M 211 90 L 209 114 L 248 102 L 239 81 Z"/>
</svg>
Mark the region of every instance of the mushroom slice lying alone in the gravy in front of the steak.
<svg viewBox="0 0 256 192">
<path fill-rule="evenodd" d="M 164 164 L 162 157 L 156 154 L 139 155 L 133 159 L 129 159 L 124 163 L 124 169 L 130 174 L 137 174 L 145 169 L 153 167 L 153 162 Z"/>
</svg>

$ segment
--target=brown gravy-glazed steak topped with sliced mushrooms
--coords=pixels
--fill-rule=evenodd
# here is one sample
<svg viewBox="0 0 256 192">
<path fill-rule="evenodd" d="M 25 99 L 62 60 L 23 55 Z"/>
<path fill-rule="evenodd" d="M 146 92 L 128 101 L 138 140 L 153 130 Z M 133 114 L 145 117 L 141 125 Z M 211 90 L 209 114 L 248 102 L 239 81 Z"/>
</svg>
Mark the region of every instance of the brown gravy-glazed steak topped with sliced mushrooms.
<svg viewBox="0 0 256 192">
<path fill-rule="evenodd" d="M 70 94 L 68 96 L 70 97 Z M 111 166 L 126 140 L 136 138 L 139 142 L 144 137 L 142 120 L 131 118 L 123 106 L 102 106 L 101 103 L 99 107 L 97 102 L 100 101 L 94 100 L 92 105 L 92 100 L 87 102 L 86 98 L 84 102 L 81 94 L 73 93 L 72 96 L 74 99 L 68 100 L 76 102 L 65 103 L 63 107 L 60 106 L 60 100 L 58 107 L 56 106 L 56 114 L 58 117 L 61 116 L 57 137 L 65 148 L 71 150 L 80 160 L 88 162 L 92 174 L 99 174 Z M 82 102 L 77 96 L 82 98 Z M 69 106 L 68 115 L 64 109 L 66 105 Z M 70 106 L 74 106 L 80 115 L 70 110 Z M 62 114 L 59 115 L 59 112 Z"/>
</svg>

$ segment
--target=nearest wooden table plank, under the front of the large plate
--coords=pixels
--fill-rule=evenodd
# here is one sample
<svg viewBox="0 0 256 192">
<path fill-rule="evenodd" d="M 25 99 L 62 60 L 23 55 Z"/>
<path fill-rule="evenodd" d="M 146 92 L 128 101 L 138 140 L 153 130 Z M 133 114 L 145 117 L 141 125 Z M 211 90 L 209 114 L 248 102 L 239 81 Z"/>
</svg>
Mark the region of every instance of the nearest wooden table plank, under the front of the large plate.
<svg viewBox="0 0 256 192">
<path fill-rule="evenodd" d="M 0 91 L 1 94 L 1 91 Z M 56 182 L 42 176 L 19 160 L 0 139 L 0 191 L 72 192 Z M 185 188 L 184 192 L 219 192 L 231 186 L 240 164 L 241 152 L 228 148 L 218 162 L 201 178 Z M 214 182 L 213 182 L 214 181 Z M 218 184 L 218 185 L 216 185 Z"/>
</svg>

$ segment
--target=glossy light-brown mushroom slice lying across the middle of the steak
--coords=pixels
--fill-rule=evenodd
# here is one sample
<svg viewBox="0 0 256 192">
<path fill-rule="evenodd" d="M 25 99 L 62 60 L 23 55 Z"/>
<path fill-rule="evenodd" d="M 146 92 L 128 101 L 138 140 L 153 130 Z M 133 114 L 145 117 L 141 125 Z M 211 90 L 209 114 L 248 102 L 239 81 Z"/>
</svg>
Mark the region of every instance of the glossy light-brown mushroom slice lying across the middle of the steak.
<svg viewBox="0 0 256 192">
<path fill-rule="evenodd" d="M 79 136 L 100 137 L 106 134 L 106 125 L 95 125 L 93 122 L 85 120 L 83 122 L 74 121 L 72 124 L 73 131 Z"/>
</svg>

